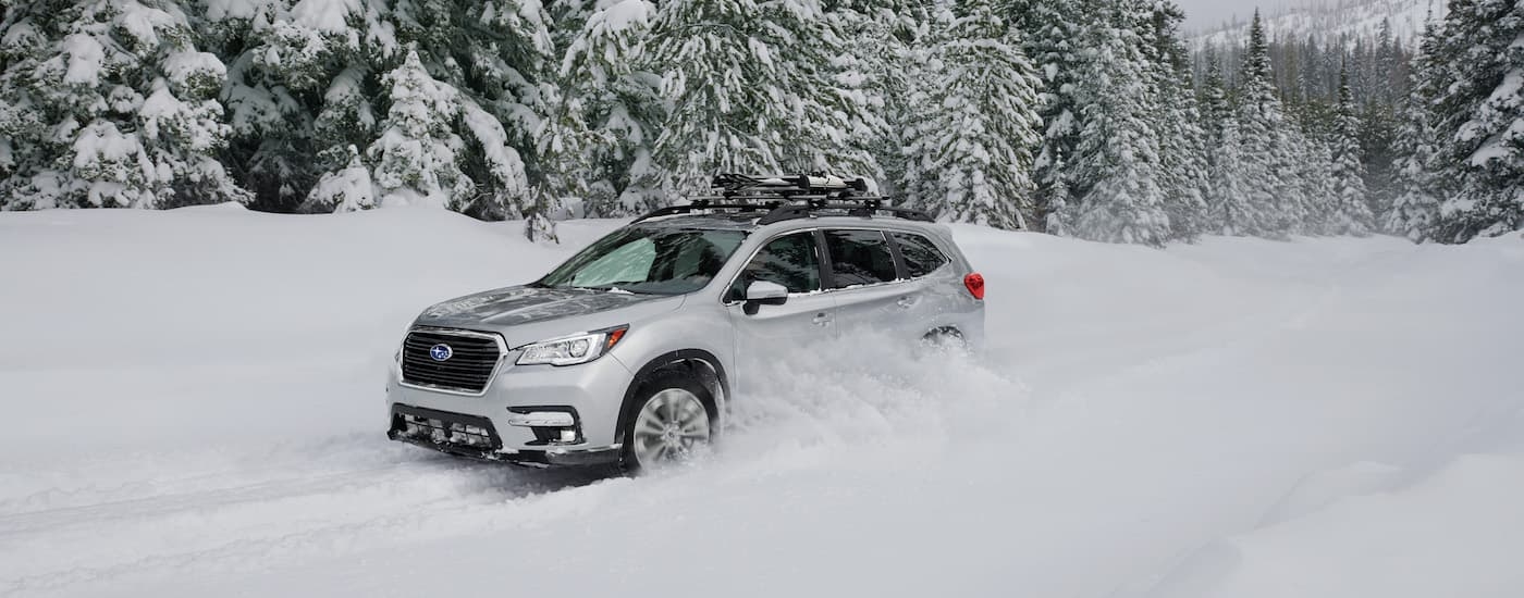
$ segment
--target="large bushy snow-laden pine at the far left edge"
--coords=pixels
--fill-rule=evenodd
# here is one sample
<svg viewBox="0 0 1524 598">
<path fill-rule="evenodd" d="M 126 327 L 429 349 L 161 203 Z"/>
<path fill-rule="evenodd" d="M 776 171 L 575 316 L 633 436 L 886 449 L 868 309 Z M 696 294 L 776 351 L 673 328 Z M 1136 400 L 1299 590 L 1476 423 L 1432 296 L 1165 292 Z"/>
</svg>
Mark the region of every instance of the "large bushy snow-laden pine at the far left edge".
<svg viewBox="0 0 1524 598">
<path fill-rule="evenodd" d="M 216 160 L 226 68 L 177 3 L 17 6 L 0 56 L 5 208 L 248 199 Z"/>
</svg>

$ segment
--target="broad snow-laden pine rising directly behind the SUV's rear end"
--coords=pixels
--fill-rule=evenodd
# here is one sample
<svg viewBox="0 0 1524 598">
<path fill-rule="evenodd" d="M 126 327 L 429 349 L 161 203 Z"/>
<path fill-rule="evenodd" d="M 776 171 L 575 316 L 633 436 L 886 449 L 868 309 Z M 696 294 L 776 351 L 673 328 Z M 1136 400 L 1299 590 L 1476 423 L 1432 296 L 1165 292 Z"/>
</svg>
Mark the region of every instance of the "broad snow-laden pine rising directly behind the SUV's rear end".
<svg viewBox="0 0 1524 598">
<path fill-rule="evenodd" d="M 939 21 L 910 96 L 901 187 L 942 221 L 1026 228 L 1036 73 L 992 2 L 959 0 Z"/>
</svg>

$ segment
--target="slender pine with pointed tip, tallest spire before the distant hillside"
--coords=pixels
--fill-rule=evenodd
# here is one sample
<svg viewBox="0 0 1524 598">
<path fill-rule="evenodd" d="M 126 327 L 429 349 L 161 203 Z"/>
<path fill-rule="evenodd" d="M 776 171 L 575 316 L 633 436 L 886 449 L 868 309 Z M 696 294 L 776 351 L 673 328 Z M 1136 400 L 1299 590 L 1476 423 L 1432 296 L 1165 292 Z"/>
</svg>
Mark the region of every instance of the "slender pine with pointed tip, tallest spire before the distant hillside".
<svg viewBox="0 0 1524 598">
<path fill-rule="evenodd" d="M 1234 113 L 1242 145 L 1242 172 L 1247 210 L 1234 215 L 1234 233 L 1280 236 L 1294 222 L 1283 205 L 1277 167 L 1286 155 L 1282 148 L 1286 126 L 1280 99 L 1269 67 L 1269 46 L 1259 11 L 1250 24 L 1250 41 L 1239 72 L 1237 110 Z"/>
</svg>

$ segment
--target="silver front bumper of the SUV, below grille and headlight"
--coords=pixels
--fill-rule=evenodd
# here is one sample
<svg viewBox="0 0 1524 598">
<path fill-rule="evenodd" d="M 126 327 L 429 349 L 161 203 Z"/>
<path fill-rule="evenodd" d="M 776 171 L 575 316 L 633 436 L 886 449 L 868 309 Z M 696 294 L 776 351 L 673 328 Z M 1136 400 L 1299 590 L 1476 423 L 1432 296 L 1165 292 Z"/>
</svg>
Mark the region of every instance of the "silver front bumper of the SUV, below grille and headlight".
<svg viewBox="0 0 1524 598">
<path fill-rule="evenodd" d="M 530 466 L 619 460 L 619 412 L 634 374 L 613 355 L 570 365 L 512 365 L 482 396 L 387 382 L 387 437 L 451 455 Z M 572 426 L 564 423 L 570 417 Z"/>
</svg>

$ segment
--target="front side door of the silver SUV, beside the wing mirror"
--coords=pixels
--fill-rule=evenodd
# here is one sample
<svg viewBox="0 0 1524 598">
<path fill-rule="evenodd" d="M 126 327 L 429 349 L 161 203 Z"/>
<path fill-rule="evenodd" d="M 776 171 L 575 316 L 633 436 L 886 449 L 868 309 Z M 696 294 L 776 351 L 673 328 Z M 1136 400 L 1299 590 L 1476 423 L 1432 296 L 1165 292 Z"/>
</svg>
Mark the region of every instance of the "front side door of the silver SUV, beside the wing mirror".
<svg viewBox="0 0 1524 598">
<path fill-rule="evenodd" d="M 768 240 L 747 262 L 725 292 L 725 307 L 736 329 L 741 371 L 760 371 L 759 361 L 808 350 L 837 336 L 837 303 L 821 291 L 823 254 L 814 231 L 786 233 Z M 780 306 L 747 304 L 745 289 L 754 282 L 783 285 L 788 300 Z M 754 380 L 739 380 L 753 386 Z"/>
</svg>

